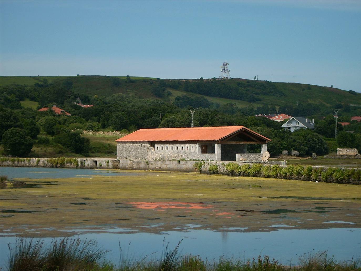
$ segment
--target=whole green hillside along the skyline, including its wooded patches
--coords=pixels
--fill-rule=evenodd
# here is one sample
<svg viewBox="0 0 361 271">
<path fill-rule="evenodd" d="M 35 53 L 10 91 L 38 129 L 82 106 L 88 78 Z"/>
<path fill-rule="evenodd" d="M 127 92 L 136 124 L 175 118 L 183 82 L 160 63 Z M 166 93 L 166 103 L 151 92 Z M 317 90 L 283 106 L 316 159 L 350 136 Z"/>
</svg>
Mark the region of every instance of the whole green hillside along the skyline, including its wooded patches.
<svg viewBox="0 0 361 271">
<path fill-rule="evenodd" d="M 166 95 L 155 94 L 155 87 L 162 81 Z M 257 108 L 263 105 L 296 106 L 299 103 L 310 103 L 319 106 L 322 111 L 329 111 L 336 106 L 347 104 L 361 104 L 361 93 L 349 92 L 341 89 L 307 85 L 301 83 L 278 83 L 268 81 L 255 81 L 247 79 L 228 79 L 224 81 L 214 79 L 178 80 L 148 77 L 125 76 L 2 76 L 0 86 L 22 85 L 33 86 L 34 84 L 60 84 L 71 85 L 71 90 L 79 95 L 110 96 L 122 93 L 126 96 L 135 95 L 142 98 L 157 98 L 165 102 L 174 102 L 177 96 L 188 95 L 193 98 L 203 96 L 211 103 L 226 104 L 234 103 L 238 107 Z M 186 85 L 193 89 L 186 89 Z M 208 87 L 214 86 L 221 91 L 222 96 L 212 95 Z M 223 88 L 223 89 L 222 89 Z M 187 91 L 186 91 L 187 90 Z M 234 91 L 240 91 L 243 98 L 232 98 Z M 214 92 L 213 93 L 217 93 Z M 341 106 L 341 107 L 342 107 Z M 270 112 L 272 113 L 272 112 Z"/>
</svg>

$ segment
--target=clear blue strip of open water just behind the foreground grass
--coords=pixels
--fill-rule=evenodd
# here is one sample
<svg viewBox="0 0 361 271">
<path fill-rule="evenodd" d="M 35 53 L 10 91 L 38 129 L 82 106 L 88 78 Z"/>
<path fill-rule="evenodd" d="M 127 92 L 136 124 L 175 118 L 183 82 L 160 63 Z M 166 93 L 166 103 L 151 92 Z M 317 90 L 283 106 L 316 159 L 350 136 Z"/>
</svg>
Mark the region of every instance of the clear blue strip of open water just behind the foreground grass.
<svg viewBox="0 0 361 271">
<path fill-rule="evenodd" d="M 126 229 L 113 229 L 111 231 L 125 231 Z M 208 231 L 190 228 L 188 231 L 168 231 L 160 234 L 145 232 L 134 233 L 86 233 L 76 235 L 81 239 L 97 240 L 98 244 L 110 252 L 107 259 L 118 263 L 119 244 L 123 251 L 136 258 L 151 255 L 157 252 L 160 257 L 163 245 L 169 242 L 169 247 L 174 248 L 179 241 L 181 254 L 200 255 L 203 259 L 218 259 L 219 256 L 241 260 L 268 255 L 277 259 L 282 264 L 296 265 L 300 256 L 310 251 L 327 250 L 329 256 L 334 255 L 336 260 L 347 261 L 353 257 L 361 257 L 361 229 L 280 229 L 271 232 L 233 232 Z M 47 243 L 52 238 L 45 238 Z M 0 263 L 6 261 L 9 250 L 7 245 L 13 245 L 16 237 L 0 238 Z M 129 250 L 128 250 L 129 249 Z"/>
</svg>

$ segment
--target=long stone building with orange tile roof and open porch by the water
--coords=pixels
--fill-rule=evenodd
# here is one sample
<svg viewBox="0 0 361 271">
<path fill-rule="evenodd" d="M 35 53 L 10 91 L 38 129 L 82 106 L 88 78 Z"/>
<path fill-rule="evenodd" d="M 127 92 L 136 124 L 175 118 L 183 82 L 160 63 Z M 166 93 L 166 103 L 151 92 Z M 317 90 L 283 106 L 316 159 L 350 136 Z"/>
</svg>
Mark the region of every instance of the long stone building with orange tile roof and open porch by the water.
<svg viewBox="0 0 361 271">
<path fill-rule="evenodd" d="M 117 159 L 261 161 L 270 141 L 244 126 L 140 129 L 116 140 Z M 248 144 L 261 153 L 247 153 Z"/>
</svg>

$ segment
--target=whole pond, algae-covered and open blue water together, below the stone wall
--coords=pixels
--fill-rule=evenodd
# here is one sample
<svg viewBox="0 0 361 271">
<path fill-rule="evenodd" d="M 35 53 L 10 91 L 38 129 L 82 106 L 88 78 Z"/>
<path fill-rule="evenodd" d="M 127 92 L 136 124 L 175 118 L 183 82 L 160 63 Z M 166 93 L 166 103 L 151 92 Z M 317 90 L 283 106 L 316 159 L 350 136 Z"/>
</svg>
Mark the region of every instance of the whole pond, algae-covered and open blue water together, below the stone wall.
<svg viewBox="0 0 361 271">
<path fill-rule="evenodd" d="M 0 190 L 0 267 L 18 237 L 96 240 L 115 262 L 119 244 L 144 257 L 159 255 L 164 238 L 208 259 L 268 255 L 297 264 L 319 250 L 361 257 L 355 185 L 61 168 L 3 167 L 0 175 L 29 184 Z"/>
</svg>

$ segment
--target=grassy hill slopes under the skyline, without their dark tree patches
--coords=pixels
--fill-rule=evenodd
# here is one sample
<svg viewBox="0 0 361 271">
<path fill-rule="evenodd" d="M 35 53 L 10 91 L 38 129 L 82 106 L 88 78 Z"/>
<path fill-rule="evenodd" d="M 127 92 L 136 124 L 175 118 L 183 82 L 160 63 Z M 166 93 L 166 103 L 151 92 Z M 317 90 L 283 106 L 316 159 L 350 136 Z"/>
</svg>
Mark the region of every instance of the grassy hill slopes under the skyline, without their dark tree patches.
<svg viewBox="0 0 361 271">
<path fill-rule="evenodd" d="M 204 79 L 205 82 L 211 79 Z M 176 81 L 165 79 L 165 82 Z M 190 79 L 191 83 L 197 81 L 196 79 Z M 112 94 L 122 93 L 125 95 L 136 95 L 143 98 L 157 98 L 152 93 L 152 88 L 159 82 L 156 78 L 149 77 L 131 77 L 131 80 L 127 80 L 124 76 L 112 77 L 112 76 L 2 76 L 0 77 L 0 86 L 9 85 L 23 85 L 32 86 L 35 83 L 64 83 L 71 82 L 72 90 L 78 94 L 86 95 L 98 95 L 98 96 L 110 96 Z M 178 82 L 178 81 L 177 81 Z M 217 81 L 218 82 L 218 81 Z M 301 83 L 282 83 L 267 81 L 254 81 L 247 79 L 228 79 L 221 83 L 228 87 L 237 88 L 239 82 L 247 83 L 256 82 L 256 87 L 244 87 L 245 91 L 254 95 L 257 100 L 249 102 L 247 100 L 239 99 L 227 99 L 219 98 L 210 95 L 195 94 L 184 91 L 185 80 L 179 80 L 177 89 L 167 86 L 166 90 L 170 91 L 171 95 L 166 95 L 163 98 L 157 98 L 165 100 L 166 102 L 173 102 L 176 96 L 188 95 L 192 97 L 204 96 L 210 102 L 225 104 L 235 103 L 238 107 L 253 107 L 267 105 L 275 105 L 277 108 L 282 105 L 296 105 L 297 103 L 314 103 L 320 106 L 322 109 L 331 109 L 336 103 L 345 104 L 361 104 L 361 93 L 350 93 L 349 91 L 322 87 L 316 85 L 308 85 Z M 262 84 L 272 84 L 277 91 L 282 95 L 267 95 L 267 91 L 258 93 L 258 87 Z M 257 94 L 258 93 L 258 94 Z"/>
</svg>

